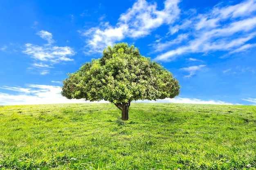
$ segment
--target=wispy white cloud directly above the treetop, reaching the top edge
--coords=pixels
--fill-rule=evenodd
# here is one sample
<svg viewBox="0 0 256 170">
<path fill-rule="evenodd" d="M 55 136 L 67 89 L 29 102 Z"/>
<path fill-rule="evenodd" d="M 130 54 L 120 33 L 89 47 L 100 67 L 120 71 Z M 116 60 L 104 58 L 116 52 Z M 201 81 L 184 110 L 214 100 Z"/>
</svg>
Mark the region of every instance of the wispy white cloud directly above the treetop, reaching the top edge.
<svg viewBox="0 0 256 170">
<path fill-rule="evenodd" d="M 157 4 L 146 0 L 138 0 L 120 18 L 115 26 L 108 22 L 102 22 L 99 27 L 93 27 L 86 31 L 79 31 L 88 40 L 85 48 L 88 53 L 99 53 L 108 45 L 121 41 L 124 38 L 141 38 L 149 35 L 153 30 L 163 24 L 171 24 L 175 21 L 180 9 L 179 0 L 166 0 L 164 9 L 158 10 Z"/>
</svg>

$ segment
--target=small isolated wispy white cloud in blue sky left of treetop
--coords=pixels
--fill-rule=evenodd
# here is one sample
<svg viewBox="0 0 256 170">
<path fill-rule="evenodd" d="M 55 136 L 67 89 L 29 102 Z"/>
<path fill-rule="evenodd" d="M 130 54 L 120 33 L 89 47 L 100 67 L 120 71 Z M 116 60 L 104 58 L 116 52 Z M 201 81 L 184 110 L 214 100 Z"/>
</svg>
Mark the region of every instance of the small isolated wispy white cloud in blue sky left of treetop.
<svg viewBox="0 0 256 170">
<path fill-rule="evenodd" d="M 73 60 L 69 57 L 75 54 L 73 49 L 69 46 L 54 46 L 53 44 L 55 41 L 52 39 L 52 33 L 42 30 L 37 32 L 36 35 L 47 40 L 47 44 L 44 44 L 44 46 L 38 46 L 27 43 L 25 44 L 26 50 L 22 51 L 35 59 L 36 62 L 32 64 L 33 68 L 52 68 L 52 64 L 56 64 L 61 61 Z M 49 71 L 41 72 L 41 74 L 47 73 L 49 73 Z"/>
</svg>

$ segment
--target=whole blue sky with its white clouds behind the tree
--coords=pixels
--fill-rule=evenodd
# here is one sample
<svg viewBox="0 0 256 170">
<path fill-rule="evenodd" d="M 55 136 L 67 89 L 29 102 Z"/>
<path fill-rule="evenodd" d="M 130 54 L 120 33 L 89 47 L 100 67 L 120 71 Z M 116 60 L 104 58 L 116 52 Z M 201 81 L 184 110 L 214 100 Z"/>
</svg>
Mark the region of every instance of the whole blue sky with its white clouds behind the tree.
<svg viewBox="0 0 256 170">
<path fill-rule="evenodd" d="M 118 42 L 179 81 L 158 102 L 256 105 L 256 0 L 2 0 L 0 16 L 0 105 L 84 102 L 62 81 Z"/>
</svg>

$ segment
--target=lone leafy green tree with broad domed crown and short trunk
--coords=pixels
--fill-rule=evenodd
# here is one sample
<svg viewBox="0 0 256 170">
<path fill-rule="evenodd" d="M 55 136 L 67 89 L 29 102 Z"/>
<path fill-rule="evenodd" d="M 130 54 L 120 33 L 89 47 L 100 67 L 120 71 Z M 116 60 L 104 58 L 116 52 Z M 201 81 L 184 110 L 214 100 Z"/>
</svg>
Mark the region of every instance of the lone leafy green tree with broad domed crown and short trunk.
<svg viewBox="0 0 256 170">
<path fill-rule="evenodd" d="M 180 85 L 168 70 L 126 43 L 104 49 L 103 56 L 83 64 L 63 81 L 61 95 L 68 99 L 106 100 L 128 120 L 130 102 L 174 98 Z"/>
</svg>

